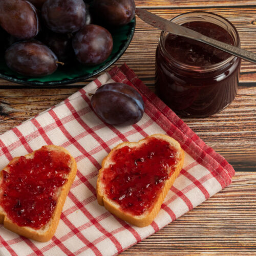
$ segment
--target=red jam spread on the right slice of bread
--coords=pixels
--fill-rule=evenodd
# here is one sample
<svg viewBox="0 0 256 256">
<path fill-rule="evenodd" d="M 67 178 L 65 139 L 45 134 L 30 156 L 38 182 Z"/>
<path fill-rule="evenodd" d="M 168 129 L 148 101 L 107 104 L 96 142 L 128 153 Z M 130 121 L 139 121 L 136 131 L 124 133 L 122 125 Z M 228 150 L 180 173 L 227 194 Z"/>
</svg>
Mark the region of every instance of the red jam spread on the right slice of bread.
<svg viewBox="0 0 256 256">
<path fill-rule="evenodd" d="M 173 174 L 176 154 L 168 142 L 156 138 L 138 147 L 119 148 L 111 159 L 114 164 L 104 169 L 105 194 L 122 210 L 136 216 L 143 214 Z"/>
</svg>

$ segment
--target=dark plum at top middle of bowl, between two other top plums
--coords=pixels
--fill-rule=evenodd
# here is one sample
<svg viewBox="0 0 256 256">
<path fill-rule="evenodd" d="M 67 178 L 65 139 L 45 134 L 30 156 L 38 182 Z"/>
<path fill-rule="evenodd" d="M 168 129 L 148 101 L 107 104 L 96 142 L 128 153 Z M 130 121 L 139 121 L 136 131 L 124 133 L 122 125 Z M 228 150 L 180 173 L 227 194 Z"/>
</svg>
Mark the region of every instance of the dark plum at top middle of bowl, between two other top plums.
<svg viewBox="0 0 256 256">
<path fill-rule="evenodd" d="M 86 22 L 86 4 L 82 0 L 47 0 L 41 15 L 50 30 L 74 33 Z"/>
</svg>

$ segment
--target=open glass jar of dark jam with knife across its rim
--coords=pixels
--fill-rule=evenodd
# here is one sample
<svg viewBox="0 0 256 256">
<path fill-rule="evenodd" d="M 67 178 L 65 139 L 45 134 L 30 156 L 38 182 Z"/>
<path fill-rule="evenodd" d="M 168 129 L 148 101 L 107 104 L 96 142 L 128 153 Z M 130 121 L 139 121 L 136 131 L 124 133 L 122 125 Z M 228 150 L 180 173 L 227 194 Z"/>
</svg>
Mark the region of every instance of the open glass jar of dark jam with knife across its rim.
<svg viewBox="0 0 256 256">
<path fill-rule="evenodd" d="M 179 25 L 192 24 L 191 22 L 216 24 L 223 28 L 229 37 L 231 36 L 234 46 L 240 47 L 240 38 L 236 28 L 227 19 L 217 14 L 188 12 L 175 17 L 172 22 Z M 225 40 L 227 36 L 225 33 L 215 32 L 223 34 Z M 237 94 L 241 59 L 221 52 L 226 58 L 220 62 L 209 65 L 204 65 L 203 62 L 199 66 L 190 65 L 181 61 L 180 58 L 177 59 L 177 54 L 181 54 L 181 57 L 185 54 L 182 50 L 178 49 L 173 53 L 167 51 L 168 34 L 164 31 L 161 33 L 156 51 L 155 87 L 157 95 L 170 109 L 185 117 L 206 117 L 226 108 Z M 211 37 L 210 34 L 208 36 Z M 202 43 L 199 42 L 199 44 Z"/>
</svg>

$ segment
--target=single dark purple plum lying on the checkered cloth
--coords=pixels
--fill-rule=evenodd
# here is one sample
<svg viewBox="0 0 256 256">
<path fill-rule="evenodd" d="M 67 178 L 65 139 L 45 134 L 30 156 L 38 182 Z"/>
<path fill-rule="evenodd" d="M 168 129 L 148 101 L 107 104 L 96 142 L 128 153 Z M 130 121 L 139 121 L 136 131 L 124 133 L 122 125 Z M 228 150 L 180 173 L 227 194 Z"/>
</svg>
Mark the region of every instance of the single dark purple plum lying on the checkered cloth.
<svg viewBox="0 0 256 256">
<path fill-rule="evenodd" d="M 111 125 L 137 123 L 144 113 L 141 95 L 125 83 L 104 84 L 92 96 L 91 105 L 97 116 Z"/>
</svg>

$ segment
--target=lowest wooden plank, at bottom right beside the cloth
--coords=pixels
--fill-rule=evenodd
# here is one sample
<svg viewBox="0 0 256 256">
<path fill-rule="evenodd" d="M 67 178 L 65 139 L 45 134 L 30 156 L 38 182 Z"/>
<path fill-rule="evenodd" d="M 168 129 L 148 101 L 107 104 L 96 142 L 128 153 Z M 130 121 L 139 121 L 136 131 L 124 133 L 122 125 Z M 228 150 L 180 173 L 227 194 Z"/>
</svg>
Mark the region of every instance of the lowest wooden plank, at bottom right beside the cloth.
<svg viewBox="0 0 256 256">
<path fill-rule="evenodd" d="M 232 184 L 120 255 L 255 255 L 256 173 Z"/>
</svg>

